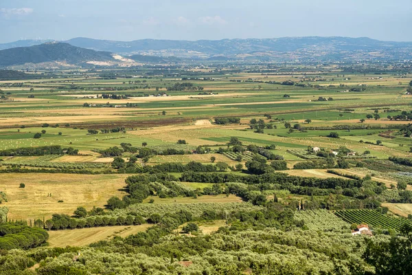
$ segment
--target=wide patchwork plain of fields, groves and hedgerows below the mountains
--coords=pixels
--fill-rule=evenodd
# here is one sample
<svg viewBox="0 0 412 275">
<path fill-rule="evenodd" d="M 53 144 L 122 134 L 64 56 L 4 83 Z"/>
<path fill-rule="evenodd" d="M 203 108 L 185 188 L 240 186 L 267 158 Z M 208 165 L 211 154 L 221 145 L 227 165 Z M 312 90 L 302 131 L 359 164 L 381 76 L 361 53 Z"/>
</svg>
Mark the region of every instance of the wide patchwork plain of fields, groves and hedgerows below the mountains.
<svg viewBox="0 0 412 275">
<path fill-rule="evenodd" d="M 202 66 L 0 82 L 0 209 L 47 230 L 34 251 L 64 251 L 33 257 L 38 270 L 78 257 L 75 272 L 374 272 L 369 236 L 350 230 L 388 241 L 411 224 L 412 74 Z M 114 258 L 127 271 L 98 267 Z"/>
</svg>

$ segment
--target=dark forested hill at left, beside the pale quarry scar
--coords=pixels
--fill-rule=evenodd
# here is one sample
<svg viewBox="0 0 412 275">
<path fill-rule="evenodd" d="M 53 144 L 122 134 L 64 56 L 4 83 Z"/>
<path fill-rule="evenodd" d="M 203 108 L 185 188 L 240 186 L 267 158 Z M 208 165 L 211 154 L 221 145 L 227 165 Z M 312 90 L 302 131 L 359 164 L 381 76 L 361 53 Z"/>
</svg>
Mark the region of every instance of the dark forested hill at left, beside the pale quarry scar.
<svg viewBox="0 0 412 275">
<path fill-rule="evenodd" d="M 67 43 L 45 43 L 0 51 L 0 66 L 3 67 L 50 62 L 78 65 L 90 61 L 115 61 L 115 59 L 109 52 L 96 52 Z"/>
</svg>

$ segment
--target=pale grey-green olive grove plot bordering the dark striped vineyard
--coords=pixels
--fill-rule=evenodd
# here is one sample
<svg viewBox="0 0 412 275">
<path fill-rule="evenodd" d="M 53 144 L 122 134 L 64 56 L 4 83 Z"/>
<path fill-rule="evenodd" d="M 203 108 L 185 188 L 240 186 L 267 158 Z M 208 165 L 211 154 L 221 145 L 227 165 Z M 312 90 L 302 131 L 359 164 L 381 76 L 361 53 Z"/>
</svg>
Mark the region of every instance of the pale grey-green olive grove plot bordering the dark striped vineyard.
<svg viewBox="0 0 412 275">
<path fill-rule="evenodd" d="M 295 212 L 295 219 L 303 220 L 309 230 L 349 230 L 350 224 L 325 209 Z"/>
</svg>

